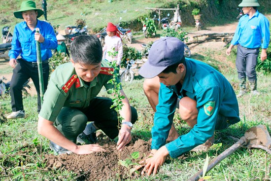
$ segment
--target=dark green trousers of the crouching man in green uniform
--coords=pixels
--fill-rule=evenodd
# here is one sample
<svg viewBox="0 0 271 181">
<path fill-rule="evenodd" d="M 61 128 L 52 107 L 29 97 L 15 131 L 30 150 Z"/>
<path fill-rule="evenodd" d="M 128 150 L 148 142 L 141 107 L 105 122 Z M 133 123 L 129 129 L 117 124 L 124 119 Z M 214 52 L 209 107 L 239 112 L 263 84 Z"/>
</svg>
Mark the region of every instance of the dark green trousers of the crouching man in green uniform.
<svg viewBox="0 0 271 181">
<path fill-rule="evenodd" d="M 114 139 L 119 133 L 119 122 L 115 109 L 110 109 L 112 104 L 109 98 L 96 97 L 85 109 L 63 107 L 57 116 L 55 126 L 68 140 L 76 143 L 77 136 L 84 131 L 87 122 L 94 121 L 110 139 Z M 131 122 L 135 123 L 136 109 L 131 106 L 131 111 Z"/>
</svg>

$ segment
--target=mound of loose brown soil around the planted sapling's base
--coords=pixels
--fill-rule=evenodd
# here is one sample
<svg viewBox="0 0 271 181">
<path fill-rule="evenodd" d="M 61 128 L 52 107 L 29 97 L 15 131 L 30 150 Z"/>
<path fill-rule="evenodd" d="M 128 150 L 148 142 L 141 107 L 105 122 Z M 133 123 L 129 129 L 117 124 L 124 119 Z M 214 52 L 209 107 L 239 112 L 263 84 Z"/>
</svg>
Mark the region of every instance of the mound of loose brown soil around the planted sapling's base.
<svg viewBox="0 0 271 181">
<path fill-rule="evenodd" d="M 118 151 L 116 143 L 108 138 L 98 140 L 97 144 L 102 145 L 106 151 L 95 152 L 89 155 L 45 155 L 44 162 L 47 163 L 48 170 L 61 168 L 76 173 L 78 176 L 81 176 L 75 178 L 77 181 L 104 181 L 109 178 L 117 179 L 119 177 L 123 180 L 129 177 L 130 169 L 124 166 L 119 167 L 119 159 L 131 159 L 131 153 L 138 151 L 138 160 L 131 160 L 135 163 L 141 160 L 144 155 L 148 155 L 150 151 L 150 142 L 140 139 L 137 139 L 135 142 L 132 141 L 122 151 Z"/>
</svg>

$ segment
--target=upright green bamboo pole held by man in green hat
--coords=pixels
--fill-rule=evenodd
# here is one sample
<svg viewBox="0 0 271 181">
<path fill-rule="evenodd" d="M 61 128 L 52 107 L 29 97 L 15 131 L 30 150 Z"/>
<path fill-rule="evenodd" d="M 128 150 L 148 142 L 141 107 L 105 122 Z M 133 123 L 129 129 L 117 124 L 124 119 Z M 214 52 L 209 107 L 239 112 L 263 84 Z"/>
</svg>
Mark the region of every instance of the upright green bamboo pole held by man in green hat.
<svg viewBox="0 0 271 181">
<path fill-rule="evenodd" d="M 36 28 L 36 33 L 39 33 L 39 29 Z M 40 53 L 40 42 L 36 41 L 36 63 L 38 69 L 38 79 L 39 79 L 39 96 L 40 96 L 40 104 L 42 106 L 43 96 L 44 96 L 44 83 L 43 83 L 43 72 L 42 72 L 42 60 Z"/>
</svg>

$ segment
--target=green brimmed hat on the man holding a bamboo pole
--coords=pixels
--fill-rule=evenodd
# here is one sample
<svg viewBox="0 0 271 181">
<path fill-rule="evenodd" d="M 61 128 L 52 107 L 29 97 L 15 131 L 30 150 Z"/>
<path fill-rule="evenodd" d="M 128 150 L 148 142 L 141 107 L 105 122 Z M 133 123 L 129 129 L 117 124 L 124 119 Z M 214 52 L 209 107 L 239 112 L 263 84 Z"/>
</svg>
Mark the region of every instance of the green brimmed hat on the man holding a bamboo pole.
<svg viewBox="0 0 271 181">
<path fill-rule="evenodd" d="M 41 9 L 37 9 L 35 2 L 32 0 L 23 1 L 21 4 L 21 9 L 19 11 L 13 12 L 13 14 L 16 18 L 24 19 L 22 12 L 29 11 L 29 10 L 36 10 L 37 11 L 37 18 L 43 14 L 43 11 Z"/>
</svg>

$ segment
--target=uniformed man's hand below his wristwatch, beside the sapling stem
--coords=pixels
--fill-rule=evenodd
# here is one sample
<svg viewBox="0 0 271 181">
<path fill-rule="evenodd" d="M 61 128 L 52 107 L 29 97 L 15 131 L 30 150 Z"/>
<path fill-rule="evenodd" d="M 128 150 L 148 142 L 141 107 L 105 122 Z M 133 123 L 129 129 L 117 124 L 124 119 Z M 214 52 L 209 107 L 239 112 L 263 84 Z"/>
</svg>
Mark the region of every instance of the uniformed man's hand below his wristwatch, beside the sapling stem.
<svg viewBox="0 0 271 181">
<path fill-rule="evenodd" d="M 124 146 L 127 145 L 131 140 L 132 140 L 131 128 L 128 125 L 123 124 L 119 132 L 119 141 L 117 143 L 118 145 L 117 149 L 121 151 L 124 148 Z"/>
</svg>

